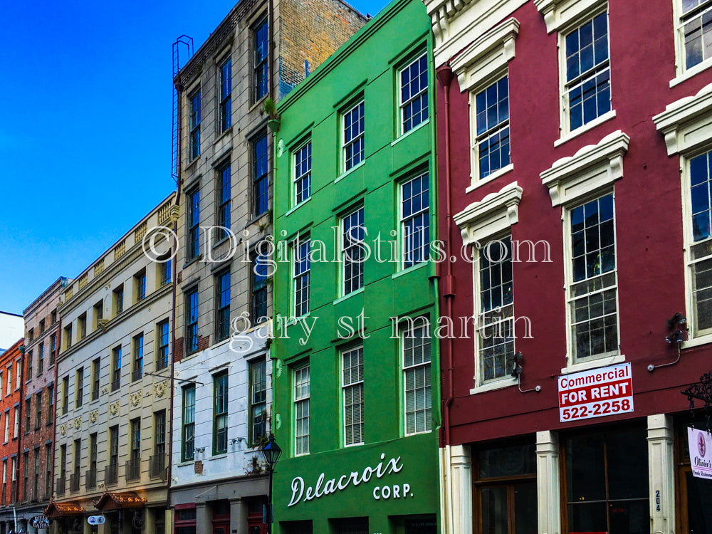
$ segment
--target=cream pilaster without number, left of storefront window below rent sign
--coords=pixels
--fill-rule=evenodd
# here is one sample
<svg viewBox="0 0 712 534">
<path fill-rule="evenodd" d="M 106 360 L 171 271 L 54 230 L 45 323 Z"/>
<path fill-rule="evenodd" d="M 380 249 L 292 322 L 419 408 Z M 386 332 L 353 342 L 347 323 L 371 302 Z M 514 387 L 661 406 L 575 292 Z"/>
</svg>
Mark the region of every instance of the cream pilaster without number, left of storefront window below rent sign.
<svg viewBox="0 0 712 534">
<path fill-rule="evenodd" d="M 536 485 L 539 534 L 560 534 L 559 435 L 536 433 Z"/>
</svg>

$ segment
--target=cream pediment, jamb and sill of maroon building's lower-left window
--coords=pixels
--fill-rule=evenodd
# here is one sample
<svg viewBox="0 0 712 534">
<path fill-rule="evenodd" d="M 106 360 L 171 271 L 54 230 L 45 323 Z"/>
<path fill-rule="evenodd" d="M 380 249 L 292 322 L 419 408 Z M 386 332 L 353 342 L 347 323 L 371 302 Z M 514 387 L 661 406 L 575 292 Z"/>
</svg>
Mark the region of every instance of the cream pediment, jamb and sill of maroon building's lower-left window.
<svg viewBox="0 0 712 534">
<path fill-rule="evenodd" d="M 499 192 L 488 194 L 481 201 L 473 202 L 463 211 L 454 216 L 454 221 L 460 228 L 460 234 L 464 246 L 482 244 L 485 239 L 502 234 L 511 234 L 511 226 L 519 221 L 519 203 L 522 199 L 523 189 L 517 182 L 507 184 Z M 473 261 L 472 290 L 473 290 L 473 312 L 479 303 L 479 255 L 476 254 Z M 479 313 L 474 314 L 479 317 Z M 474 387 L 470 389 L 470 394 L 477 394 L 493 389 L 515 386 L 519 383 L 515 377 L 501 377 L 500 379 L 481 384 L 479 344 L 478 337 L 474 342 L 474 375 L 472 377 Z"/>
</svg>

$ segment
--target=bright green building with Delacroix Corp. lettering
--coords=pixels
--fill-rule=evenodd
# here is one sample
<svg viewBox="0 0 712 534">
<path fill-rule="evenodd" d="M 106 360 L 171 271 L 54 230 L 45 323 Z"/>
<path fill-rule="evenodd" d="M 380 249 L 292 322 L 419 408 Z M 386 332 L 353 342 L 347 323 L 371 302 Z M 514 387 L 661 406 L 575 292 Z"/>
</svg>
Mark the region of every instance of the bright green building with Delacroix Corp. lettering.
<svg viewBox="0 0 712 534">
<path fill-rule="evenodd" d="M 439 531 L 431 57 L 395 0 L 278 105 L 274 533 Z"/>
</svg>

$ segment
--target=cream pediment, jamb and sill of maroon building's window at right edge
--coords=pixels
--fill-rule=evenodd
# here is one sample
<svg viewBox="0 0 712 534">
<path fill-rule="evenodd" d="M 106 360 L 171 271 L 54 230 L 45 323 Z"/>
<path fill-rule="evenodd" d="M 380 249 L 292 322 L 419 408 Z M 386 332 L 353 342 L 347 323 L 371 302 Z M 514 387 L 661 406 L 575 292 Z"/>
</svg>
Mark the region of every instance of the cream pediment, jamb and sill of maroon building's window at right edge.
<svg viewBox="0 0 712 534">
<path fill-rule="evenodd" d="M 665 137 L 669 156 L 679 155 L 682 189 L 682 231 L 685 258 L 685 306 L 686 317 L 691 321 L 689 339 L 685 347 L 696 347 L 712 342 L 712 331 L 695 335 L 696 308 L 692 298 L 692 273 L 690 248 L 694 244 L 691 235 L 690 159 L 711 149 L 712 143 L 712 83 L 696 95 L 681 98 L 667 105 L 665 111 L 653 117 L 653 122 Z"/>
</svg>

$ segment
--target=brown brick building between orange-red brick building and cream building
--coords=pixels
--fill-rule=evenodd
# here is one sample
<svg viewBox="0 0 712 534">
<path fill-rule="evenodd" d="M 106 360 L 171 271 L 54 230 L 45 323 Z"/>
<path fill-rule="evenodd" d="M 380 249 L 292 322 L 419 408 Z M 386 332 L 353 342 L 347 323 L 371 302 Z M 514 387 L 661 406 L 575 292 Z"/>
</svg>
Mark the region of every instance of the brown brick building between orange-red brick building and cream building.
<svg viewBox="0 0 712 534">
<path fill-rule="evenodd" d="M 23 391 L 21 399 L 21 451 L 17 518 L 26 525 L 41 515 L 52 498 L 55 360 L 59 349 L 57 307 L 68 278 L 58 278 L 26 310 Z M 23 528 L 28 532 L 35 529 Z"/>
</svg>

